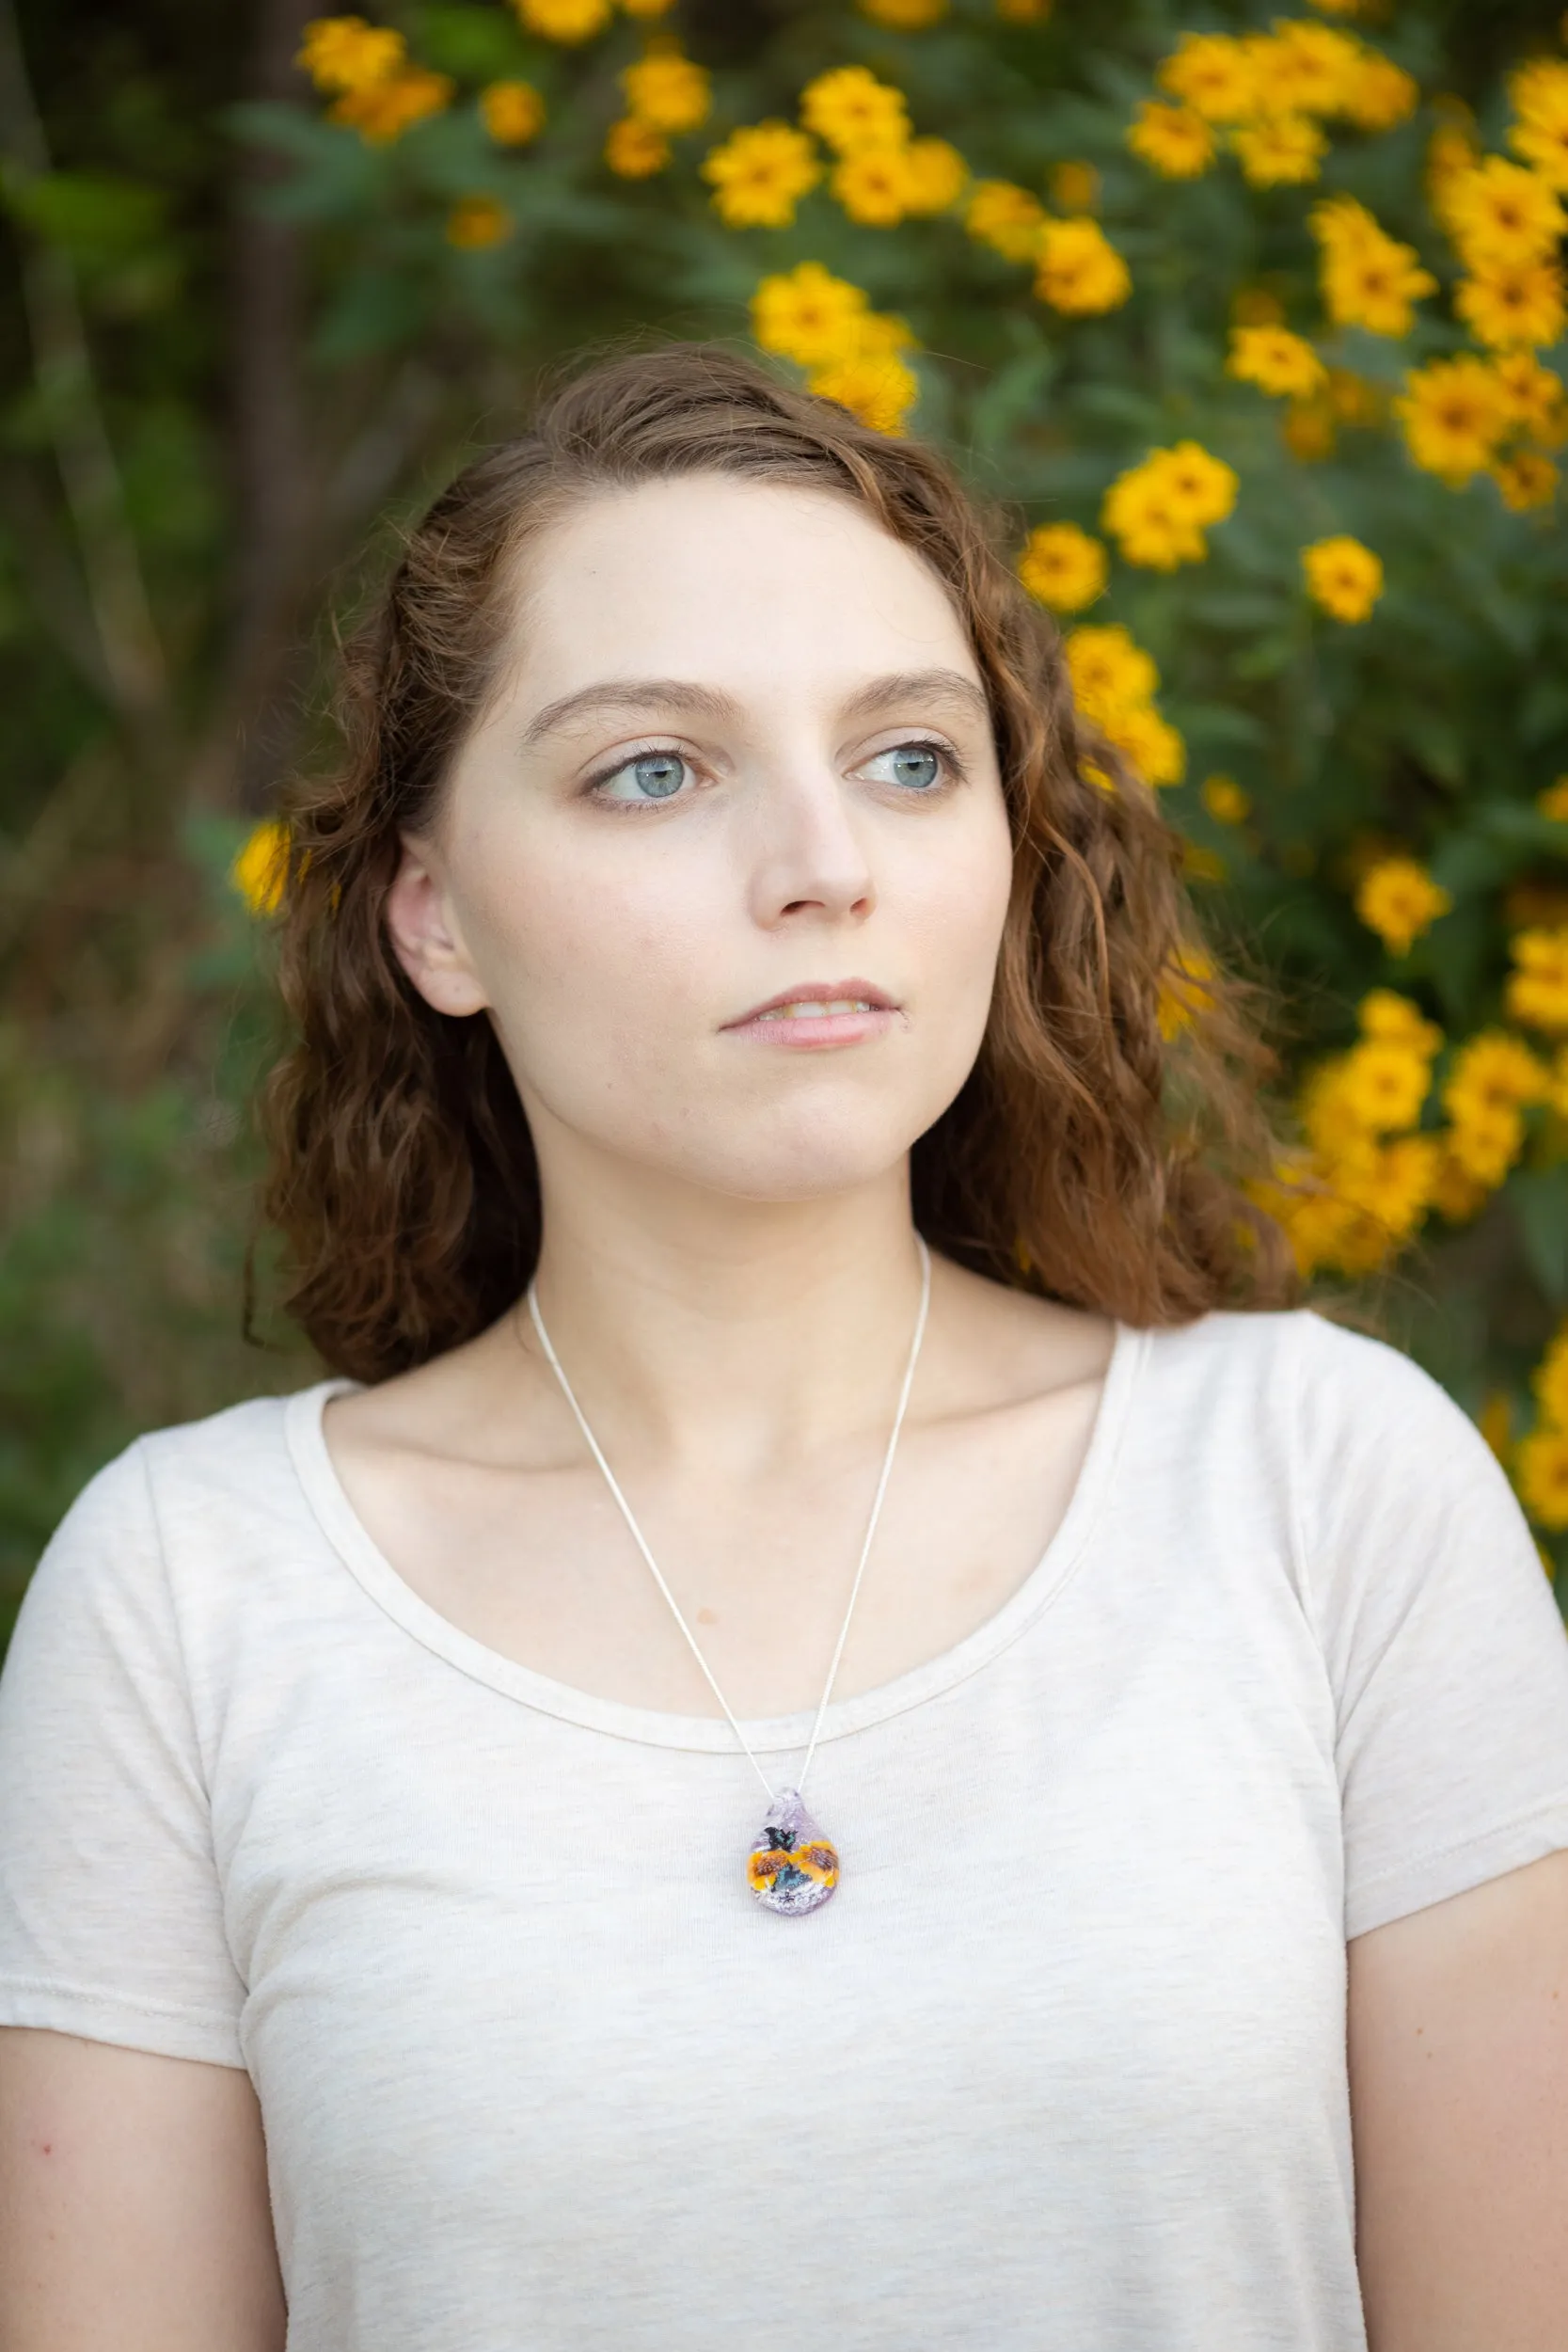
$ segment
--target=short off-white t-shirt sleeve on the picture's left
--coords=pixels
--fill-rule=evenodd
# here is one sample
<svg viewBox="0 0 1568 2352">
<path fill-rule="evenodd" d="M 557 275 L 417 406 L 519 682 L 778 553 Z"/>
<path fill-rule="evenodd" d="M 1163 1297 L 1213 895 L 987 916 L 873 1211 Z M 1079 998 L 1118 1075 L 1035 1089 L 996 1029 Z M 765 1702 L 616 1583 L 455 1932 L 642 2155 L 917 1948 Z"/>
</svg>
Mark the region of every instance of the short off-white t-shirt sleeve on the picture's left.
<svg viewBox="0 0 1568 2352">
<path fill-rule="evenodd" d="M 244 2065 L 143 1444 L 78 1496 L 0 1672 L 0 2025 Z"/>
</svg>

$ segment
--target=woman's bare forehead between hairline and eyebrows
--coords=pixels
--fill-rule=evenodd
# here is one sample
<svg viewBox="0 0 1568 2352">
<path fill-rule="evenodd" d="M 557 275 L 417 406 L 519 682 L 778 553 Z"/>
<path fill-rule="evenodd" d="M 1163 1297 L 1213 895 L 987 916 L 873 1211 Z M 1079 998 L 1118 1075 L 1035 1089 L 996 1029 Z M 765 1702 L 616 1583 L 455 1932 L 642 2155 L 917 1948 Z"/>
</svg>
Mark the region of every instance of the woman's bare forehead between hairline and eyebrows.
<svg viewBox="0 0 1568 2352">
<path fill-rule="evenodd" d="M 686 475 L 597 494 L 524 555 L 517 687 L 607 675 L 825 687 L 943 663 L 978 682 L 936 574 L 830 492 Z"/>
</svg>

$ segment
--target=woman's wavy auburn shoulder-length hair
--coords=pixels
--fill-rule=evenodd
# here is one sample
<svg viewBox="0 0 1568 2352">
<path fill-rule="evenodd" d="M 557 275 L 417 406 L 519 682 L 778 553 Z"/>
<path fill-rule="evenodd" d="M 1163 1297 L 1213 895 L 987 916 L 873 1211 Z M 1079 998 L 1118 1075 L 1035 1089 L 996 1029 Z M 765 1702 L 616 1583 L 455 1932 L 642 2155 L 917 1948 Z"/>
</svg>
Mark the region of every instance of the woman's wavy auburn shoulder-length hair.
<svg viewBox="0 0 1568 2352">
<path fill-rule="evenodd" d="M 294 1035 L 263 1094 L 261 1197 L 284 1308 L 374 1383 L 487 1329 L 534 1270 L 538 1169 L 496 1033 L 425 1004 L 386 894 L 515 644 L 527 543 L 583 499 L 696 473 L 853 501 L 943 581 L 985 680 L 1013 889 L 976 1068 L 912 1150 L 919 1230 L 1133 1324 L 1288 1303 L 1288 1247 L 1248 1195 L 1272 1160 L 1255 993 L 1199 946 L 1178 837 L 1074 710 L 999 532 L 919 440 L 677 343 L 588 367 L 475 459 L 341 649 L 341 757 L 284 807 Z"/>
</svg>

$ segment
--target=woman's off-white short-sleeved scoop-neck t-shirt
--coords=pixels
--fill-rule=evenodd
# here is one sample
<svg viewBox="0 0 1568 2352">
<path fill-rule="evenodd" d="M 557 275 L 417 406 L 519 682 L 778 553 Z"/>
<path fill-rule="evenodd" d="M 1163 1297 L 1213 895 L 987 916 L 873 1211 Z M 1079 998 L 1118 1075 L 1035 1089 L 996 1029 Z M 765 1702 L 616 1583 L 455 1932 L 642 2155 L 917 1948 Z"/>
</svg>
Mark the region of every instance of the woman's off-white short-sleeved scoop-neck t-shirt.
<svg viewBox="0 0 1568 2352">
<path fill-rule="evenodd" d="M 1568 1846 L 1563 1625 L 1422 1371 L 1119 1329 L 1027 1583 L 830 1710 L 804 1919 L 724 1722 L 402 1583 L 343 1385 L 110 1463 L 0 1682 L 0 2020 L 249 2067 L 292 2352 L 1361 2352 L 1345 1938 Z"/>
</svg>

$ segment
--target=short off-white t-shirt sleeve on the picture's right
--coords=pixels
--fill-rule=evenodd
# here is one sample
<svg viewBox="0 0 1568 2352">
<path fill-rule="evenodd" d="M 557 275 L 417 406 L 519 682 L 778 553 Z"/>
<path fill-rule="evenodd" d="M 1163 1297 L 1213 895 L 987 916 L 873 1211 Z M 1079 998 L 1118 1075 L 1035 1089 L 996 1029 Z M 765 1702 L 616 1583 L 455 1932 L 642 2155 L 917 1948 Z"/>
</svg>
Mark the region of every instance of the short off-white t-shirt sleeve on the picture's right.
<svg viewBox="0 0 1568 2352">
<path fill-rule="evenodd" d="M 1568 1846 L 1568 1632 L 1467 1414 L 1302 1317 L 1295 1508 L 1338 1710 L 1345 1933 Z"/>
</svg>

